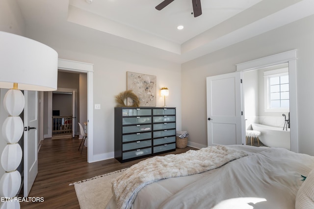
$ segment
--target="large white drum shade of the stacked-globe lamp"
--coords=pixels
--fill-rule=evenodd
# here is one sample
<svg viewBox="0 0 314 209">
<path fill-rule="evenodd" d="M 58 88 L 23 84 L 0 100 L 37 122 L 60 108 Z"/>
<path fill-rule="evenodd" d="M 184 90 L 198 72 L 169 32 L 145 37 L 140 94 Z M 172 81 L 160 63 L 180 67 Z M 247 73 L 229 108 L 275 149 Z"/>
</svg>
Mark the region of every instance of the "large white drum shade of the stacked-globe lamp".
<svg viewBox="0 0 314 209">
<path fill-rule="evenodd" d="M 58 54 L 32 39 L 0 31 L 0 88 L 57 89 Z"/>
</svg>

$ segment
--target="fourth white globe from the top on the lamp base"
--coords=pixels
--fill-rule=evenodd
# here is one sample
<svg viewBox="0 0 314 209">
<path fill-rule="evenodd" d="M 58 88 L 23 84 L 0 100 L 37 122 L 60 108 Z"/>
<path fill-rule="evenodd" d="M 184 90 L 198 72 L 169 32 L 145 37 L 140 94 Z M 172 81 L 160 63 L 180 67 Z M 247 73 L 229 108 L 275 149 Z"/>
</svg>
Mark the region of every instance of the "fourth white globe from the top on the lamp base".
<svg viewBox="0 0 314 209">
<path fill-rule="evenodd" d="M 21 174 L 18 171 L 5 173 L 0 180 L 1 197 L 15 197 L 21 186 Z"/>
</svg>

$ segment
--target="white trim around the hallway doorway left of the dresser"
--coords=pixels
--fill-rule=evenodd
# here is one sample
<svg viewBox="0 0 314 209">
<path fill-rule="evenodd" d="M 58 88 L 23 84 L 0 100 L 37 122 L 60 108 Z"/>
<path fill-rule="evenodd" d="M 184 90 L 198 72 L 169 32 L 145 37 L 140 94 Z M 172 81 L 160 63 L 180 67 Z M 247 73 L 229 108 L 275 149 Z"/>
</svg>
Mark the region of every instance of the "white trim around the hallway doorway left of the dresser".
<svg viewBox="0 0 314 209">
<path fill-rule="evenodd" d="M 94 141 L 94 112 L 93 112 L 93 75 L 94 64 L 58 59 L 58 69 L 68 72 L 78 72 L 87 74 L 87 162 L 94 162 L 93 141 Z"/>
</svg>

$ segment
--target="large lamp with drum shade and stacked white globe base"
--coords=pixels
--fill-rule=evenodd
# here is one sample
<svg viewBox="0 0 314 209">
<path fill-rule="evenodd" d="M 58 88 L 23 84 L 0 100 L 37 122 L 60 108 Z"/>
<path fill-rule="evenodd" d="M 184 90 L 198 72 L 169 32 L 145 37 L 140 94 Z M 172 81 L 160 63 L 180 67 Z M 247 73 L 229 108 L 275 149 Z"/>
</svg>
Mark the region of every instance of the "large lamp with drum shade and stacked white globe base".
<svg viewBox="0 0 314 209">
<path fill-rule="evenodd" d="M 2 137 L 7 143 L 1 154 L 5 173 L 0 179 L 0 196 L 5 199 L 0 209 L 19 209 L 14 197 L 21 186 L 16 169 L 22 160 L 19 145 L 24 131 L 20 118 L 25 105 L 20 90 L 53 91 L 57 88 L 58 54 L 52 48 L 32 39 L 0 31 L 0 88 L 10 89 L 4 95 L 3 107 L 8 117 L 2 124 Z"/>
</svg>

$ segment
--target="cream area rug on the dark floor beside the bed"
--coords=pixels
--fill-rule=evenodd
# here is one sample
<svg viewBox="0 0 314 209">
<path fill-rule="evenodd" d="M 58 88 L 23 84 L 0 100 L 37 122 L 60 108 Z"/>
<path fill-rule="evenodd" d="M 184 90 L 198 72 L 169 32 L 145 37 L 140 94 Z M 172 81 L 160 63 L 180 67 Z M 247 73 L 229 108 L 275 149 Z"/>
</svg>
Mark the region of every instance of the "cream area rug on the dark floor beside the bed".
<svg viewBox="0 0 314 209">
<path fill-rule="evenodd" d="M 104 209 L 112 197 L 111 181 L 122 175 L 125 170 L 70 183 L 69 185 L 74 185 L 79 207 L 81 209 Z"/>
</svg>

